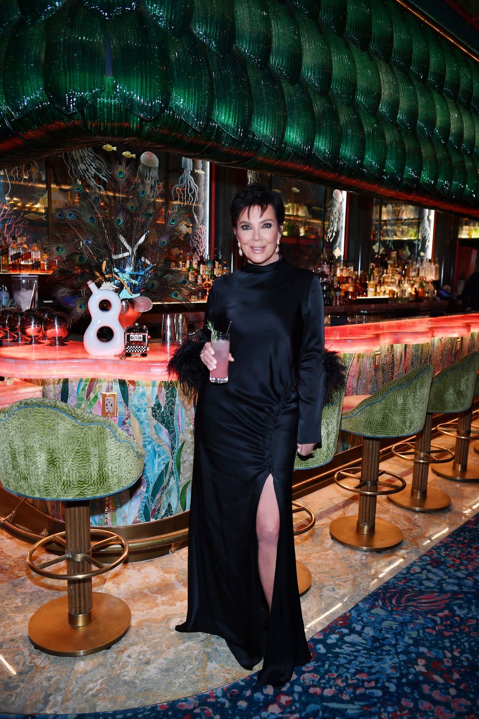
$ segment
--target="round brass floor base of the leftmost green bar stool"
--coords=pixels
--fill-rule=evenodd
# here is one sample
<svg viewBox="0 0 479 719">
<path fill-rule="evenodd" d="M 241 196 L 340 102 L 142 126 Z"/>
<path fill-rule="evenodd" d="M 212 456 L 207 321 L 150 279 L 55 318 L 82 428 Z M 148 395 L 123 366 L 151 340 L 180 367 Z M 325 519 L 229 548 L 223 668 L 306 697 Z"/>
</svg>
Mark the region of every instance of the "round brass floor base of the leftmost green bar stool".
<svg viewBox="0 0 479 719">
<path fill-rule="evenodd" d="M 57 656 L 85 656 L 109 649 L 129 630 L 131 611 L 118 597 L 93 592 L 93 620 L 85 626 L 68 623 L 68 597 L 47 602 L 32 615 L 28 636 L 33 646 Z"/>
</svg>

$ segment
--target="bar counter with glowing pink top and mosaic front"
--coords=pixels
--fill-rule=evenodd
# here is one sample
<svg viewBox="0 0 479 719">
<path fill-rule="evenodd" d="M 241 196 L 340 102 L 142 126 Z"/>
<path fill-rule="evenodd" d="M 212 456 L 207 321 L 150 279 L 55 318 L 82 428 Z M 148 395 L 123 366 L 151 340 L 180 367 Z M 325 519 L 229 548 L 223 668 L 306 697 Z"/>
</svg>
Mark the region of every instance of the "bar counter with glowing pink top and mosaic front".
<svg viewBox="0 0 479 719">
<path fill-rule="evenodd" d="M 421 362 L 438 372 L 479 349 L 479 313 L 326 326 L 325 345 L 349 367 L 346 395 L 371 394 Z M 119 359 L 90 357 L 81 342 L 0 347 L 0 375 L 41 384 L 47 398 L 101 414 L 101 393 L 116 393 L 116 421 L 145 450 L 144 474 L 130 490 L 93 502 L 93 524 L 147 523 L 189 508 L 195 400 L 167 375 L 174 350 L 153 343 L 148 357 Z M 60 518 L 59 504 L 47 510 Z"/>
</svg>

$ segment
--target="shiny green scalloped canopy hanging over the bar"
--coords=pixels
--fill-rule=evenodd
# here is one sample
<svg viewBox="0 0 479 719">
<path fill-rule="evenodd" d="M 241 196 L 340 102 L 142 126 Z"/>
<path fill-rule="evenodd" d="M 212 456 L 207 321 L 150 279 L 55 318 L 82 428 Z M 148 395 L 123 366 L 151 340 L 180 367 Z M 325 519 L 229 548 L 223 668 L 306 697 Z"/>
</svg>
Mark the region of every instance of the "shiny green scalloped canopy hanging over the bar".
<svg viewBox="0 0 479 719">
<path fill-rule="evenodd" d="M 1 0 L 0 165 L 95 142 L 479 216 L 479 64 L 395 0 Z"/>
</svg>

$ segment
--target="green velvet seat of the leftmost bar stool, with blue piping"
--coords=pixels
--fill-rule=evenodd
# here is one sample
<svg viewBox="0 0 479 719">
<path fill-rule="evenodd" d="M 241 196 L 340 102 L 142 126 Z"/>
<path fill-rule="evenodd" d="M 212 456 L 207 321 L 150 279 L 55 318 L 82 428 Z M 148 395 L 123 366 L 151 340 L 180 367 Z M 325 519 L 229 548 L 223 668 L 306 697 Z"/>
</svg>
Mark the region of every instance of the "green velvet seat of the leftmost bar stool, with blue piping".
<svg viewBox="0 0 479 719">
<path fill-rule="evenodd" d="M 143 471 L 144 452 L 107 417 L 55 400 L 0 411 L 0 480 L 26 497 L 85 500 L 121 492 Z"/>
</svg>

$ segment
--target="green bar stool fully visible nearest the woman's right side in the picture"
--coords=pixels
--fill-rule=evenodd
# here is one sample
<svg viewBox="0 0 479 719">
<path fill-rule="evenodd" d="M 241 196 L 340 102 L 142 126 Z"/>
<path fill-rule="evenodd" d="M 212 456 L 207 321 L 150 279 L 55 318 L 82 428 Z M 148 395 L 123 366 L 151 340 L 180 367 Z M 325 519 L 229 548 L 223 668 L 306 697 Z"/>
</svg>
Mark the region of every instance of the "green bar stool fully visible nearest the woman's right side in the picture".
<svg viewBox="0 0 479 719">
<path fill-rule="evenodd" d="M 401 530 L 376 518 L 378 495 L 391 495 L 406 486 L 399 475 L 379 471 L 380 440 L 410 436 L 422 429 L 431 381 L 431 365 L 419 365 L 343 414 L 341 429 L 363 436 L 363 453 L 361 467 L 335 474 L 337 485 L 359 495 L 358 517 L 339 517 L 330 524 L 330 535 L 341 544 L 364 551 L 382 551 L 401 544 Z M 383 475 L 399 485 L 380 480 Z"/>
</svg>

